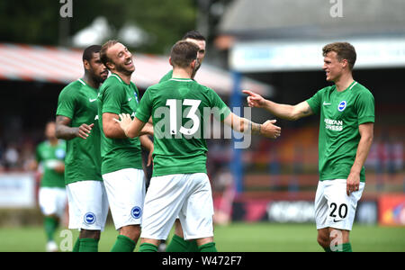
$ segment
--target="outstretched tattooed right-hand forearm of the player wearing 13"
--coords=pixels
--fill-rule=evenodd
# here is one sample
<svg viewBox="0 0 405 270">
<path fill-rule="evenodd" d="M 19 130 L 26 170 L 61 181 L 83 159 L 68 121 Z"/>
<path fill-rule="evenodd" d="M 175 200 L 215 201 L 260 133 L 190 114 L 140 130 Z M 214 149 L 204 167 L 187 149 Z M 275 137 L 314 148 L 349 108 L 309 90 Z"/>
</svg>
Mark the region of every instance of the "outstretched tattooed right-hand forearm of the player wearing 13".
<svg viewBox="0 0 405 270">
<path fill-rule="evenodd" d="M 242 133 L 262 135 L 271 139 L 277 139 L 281 135 L 281 128 L 275 125 L 275 120 L 267 120 L 263 124 L 258 124 L 230 112 L 223 122 L 232 130 Z"/>
</svg>

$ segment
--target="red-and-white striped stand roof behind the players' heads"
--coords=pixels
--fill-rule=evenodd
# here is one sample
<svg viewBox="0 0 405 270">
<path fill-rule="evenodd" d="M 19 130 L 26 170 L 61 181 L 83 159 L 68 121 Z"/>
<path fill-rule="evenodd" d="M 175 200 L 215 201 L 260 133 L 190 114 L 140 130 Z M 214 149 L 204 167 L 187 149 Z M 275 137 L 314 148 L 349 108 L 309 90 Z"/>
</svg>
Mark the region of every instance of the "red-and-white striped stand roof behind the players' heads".
<svg viewBox="0 0 405 270">
<path fill-rule="evenodd" d="M 83 76 L 82 54 L 81 49 L 0 43 L 0 79 L 67 84 Z M 168 58 L 163 56 L 135 53 L 134 63 L 132 80 L 140 88 L 157 84 L 171 69 Z M 207 63 L 195 79 L 218 94 L 230 94 L 233 88 L 230 72 Z M 242 78 L 240 86 L 266 96 L 273 93 L 270 85 L 247 77 Z"/>
</svg>

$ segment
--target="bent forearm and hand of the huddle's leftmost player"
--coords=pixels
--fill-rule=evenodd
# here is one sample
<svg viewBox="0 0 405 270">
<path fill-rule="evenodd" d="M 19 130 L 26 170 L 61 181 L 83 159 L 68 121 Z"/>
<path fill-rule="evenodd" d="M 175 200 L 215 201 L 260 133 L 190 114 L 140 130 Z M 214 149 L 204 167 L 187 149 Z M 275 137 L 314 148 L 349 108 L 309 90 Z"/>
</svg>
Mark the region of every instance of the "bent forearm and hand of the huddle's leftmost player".
<svg viewBox="0 0 405 270">
<path fill-rule="evenodd" d="M 70 118 L 57 115 L 55 131 L 58 139 L 74 139 L 76 137 L 86 139 L 94 127 L 94 123 L 90 125 L 83 123 L 79 127 L 70 127 L 70 123 Z"/>
</svg>

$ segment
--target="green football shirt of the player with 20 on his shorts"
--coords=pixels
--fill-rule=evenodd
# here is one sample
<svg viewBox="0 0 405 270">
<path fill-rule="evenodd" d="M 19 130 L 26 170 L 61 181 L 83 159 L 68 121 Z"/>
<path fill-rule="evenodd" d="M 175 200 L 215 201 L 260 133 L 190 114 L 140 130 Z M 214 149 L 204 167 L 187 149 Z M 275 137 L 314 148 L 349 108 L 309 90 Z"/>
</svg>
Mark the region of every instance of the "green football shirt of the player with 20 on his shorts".
<svg viewBox="0 0 405 270">
<path fill-rule="evenodd" d="M 320 181 L 347 178 L 360 141 L 358 126 L 374 122 L 374 96 L 356 81 L 338 92 L 328 86 L 307 100 L 312 112 L 320 113 Z M 360 181 L 365 182 L 365 168 Z"/>
</svg>

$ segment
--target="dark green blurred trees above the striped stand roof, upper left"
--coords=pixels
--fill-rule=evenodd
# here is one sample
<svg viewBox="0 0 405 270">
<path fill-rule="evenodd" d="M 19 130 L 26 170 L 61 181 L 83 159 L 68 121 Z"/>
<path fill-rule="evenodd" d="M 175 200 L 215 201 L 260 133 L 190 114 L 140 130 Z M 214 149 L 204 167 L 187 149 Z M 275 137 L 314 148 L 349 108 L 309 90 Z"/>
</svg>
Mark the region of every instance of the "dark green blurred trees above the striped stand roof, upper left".
<svg viewBox="0 0 405 270">
<path fill-rule="evenodd" d="M 104 16 L 115 30 L 136 23 L 152 37 L 138 51 L 166 53 L 185 31 L 195 28 L 193 0 L 73 0 L 73 17 L 68 34 L 73 36 L 97 16 Z M 63 4 L 58 0 L 18 0 L 0 2 L 0 41 L 58 45 Z M 116 37 L 112 37 L 116 38 Z"/>
</svg>

